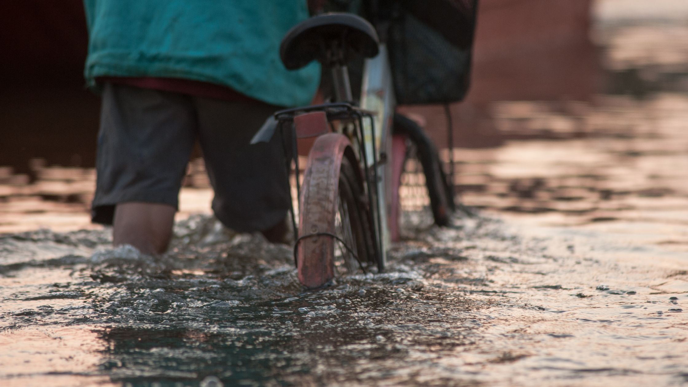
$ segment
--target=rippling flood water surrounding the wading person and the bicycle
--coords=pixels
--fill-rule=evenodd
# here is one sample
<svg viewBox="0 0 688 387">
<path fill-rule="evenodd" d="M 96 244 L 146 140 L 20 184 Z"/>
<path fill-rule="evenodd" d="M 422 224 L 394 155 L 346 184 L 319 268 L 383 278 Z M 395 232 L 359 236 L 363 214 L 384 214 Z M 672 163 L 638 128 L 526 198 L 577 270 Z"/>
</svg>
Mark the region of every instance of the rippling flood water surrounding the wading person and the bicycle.
<svg viewBox="0 0 688 387">
<path fill-rule="evenodd" d="M 408 174 L 387 273 L 321 291 L 208 216 L 198 160 L 159 258 L 88 223 L 92 169 L 0 168 L 0 385 L 688 384 L 688 24 L 603 27 L 608 94 L 455 149 L 479 216 L 431 226 Z"/>
</svg>

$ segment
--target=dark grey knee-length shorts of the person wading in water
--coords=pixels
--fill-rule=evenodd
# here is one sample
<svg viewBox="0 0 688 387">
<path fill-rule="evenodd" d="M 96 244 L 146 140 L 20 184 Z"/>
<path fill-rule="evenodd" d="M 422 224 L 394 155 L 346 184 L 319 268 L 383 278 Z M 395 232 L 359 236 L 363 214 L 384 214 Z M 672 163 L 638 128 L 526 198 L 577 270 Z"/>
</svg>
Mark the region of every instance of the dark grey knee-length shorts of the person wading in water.
<svg viewBox="0 0 688 387">
<path fill-rule="evenodd" d="M 196 140 L 215 190 L 213 211 L 236 231 L 268 229 L 289 208 L 279 136 L 250 145 L 279 107 L 107 83 L 98 134 L 92 221 L 112 224 L 122 202 L 178 208 Z"/>
</svg>

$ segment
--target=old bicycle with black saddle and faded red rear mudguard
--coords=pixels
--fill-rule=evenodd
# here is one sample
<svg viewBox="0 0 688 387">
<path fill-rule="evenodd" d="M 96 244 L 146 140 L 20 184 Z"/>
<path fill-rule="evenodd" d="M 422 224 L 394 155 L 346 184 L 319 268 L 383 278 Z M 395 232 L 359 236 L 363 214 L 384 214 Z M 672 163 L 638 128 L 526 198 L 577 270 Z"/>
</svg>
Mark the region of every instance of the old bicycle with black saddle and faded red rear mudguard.
<svg viewBox="0 0 688 387">
<path fill-rule="evenodd" d="M 432 141 L 414 121 L 394 112 L 385 42 L 355 14 L 321 14 L 296 25 L 281 43 L 289 70 L 320 61 L 330 71 L 331 101 L 277 112 L 252 143 L 282 136 L 286 172 L 296 175 L 299 222 L 292 207 L 294 263 L 299 281 L 319 288 L 340 274 L 385 270 L 398 240 L 399 186 L 409 145 L 426 176 L 434 220 L 449 224 L 455 209 Z M 361 98 L 354 100 L 347 65 L 365 57 Z M 300 184 L 297 140 L 314 138 Z M 336 249 L 335 249 L 336 247 Z"/>
</svg>

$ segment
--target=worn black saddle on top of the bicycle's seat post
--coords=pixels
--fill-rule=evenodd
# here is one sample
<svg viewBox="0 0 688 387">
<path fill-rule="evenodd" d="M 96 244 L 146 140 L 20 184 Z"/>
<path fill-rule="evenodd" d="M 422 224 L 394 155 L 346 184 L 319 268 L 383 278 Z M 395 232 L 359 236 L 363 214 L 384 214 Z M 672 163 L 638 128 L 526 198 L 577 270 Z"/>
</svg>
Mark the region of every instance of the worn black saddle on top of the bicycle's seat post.
<svg viewBox="0 0 688 387">
<path fill-rule="evenodd" d="M 378 34 L 362 17 L 347 13 L 321 14 L 302 21 L 287 32 L 279 47 L 282 63 L 297 70 L 311 61 L 329 64 L 327 48 L 332 42 L 341 44 L 345 64 L 356 55 L 372 58 L 378 54 Z"/>
</svg>

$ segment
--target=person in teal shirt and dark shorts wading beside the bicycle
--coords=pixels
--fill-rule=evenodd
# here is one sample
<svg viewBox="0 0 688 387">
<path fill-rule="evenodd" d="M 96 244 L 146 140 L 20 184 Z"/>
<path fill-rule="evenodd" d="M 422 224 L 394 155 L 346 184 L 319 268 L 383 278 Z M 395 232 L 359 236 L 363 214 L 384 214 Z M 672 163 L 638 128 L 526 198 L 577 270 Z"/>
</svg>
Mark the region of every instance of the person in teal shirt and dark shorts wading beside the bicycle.
<svg viewBox="0 0 688 387">
<path fill-rule="evenodd" d="M 114 244 L 166 251 L 196 140 L 213 212 L 283 241 L 289 206 L 279 137 L 249 145 L 270 114 L 308 105 L 319 65 L 288 71 L 279 43 L 302 1 L 85 0 L 87 86 L 102 94 L 92 221 Z"/>
</svg>

